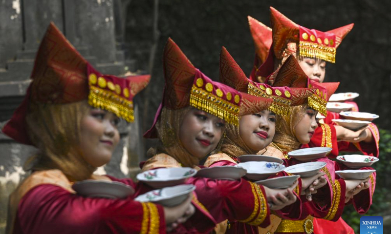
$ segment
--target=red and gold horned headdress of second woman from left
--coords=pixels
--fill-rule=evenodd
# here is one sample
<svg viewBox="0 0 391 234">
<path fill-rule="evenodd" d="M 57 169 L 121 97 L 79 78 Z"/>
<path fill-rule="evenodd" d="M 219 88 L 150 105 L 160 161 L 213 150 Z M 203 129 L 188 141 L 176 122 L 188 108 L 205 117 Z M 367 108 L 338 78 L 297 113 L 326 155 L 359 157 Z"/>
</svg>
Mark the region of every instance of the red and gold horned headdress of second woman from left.
<svg viewBox="0 0 391 234">
<path fill-rule="evenodd" d="M 157 137 L 155 124 L 162 108 L 178 110 L 187 106 L 208 112 L 228 123 L 239 124 L 239 117 L 267 109 L 270 98 L 258 98 L 213 81 L 194 67 L 172 39 L 163 52 L 165 86 L 163 100 L 152 128 L 144 137 Z"/>
</svg>

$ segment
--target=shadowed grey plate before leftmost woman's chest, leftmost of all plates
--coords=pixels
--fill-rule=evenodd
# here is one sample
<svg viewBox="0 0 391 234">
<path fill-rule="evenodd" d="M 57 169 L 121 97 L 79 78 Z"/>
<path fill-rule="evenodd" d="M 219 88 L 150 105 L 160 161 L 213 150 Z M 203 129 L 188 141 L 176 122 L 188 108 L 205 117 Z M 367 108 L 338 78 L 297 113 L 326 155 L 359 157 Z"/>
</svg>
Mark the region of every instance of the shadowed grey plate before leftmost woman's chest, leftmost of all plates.
<svg viewBox="0 0 391 234">
<path fill-rule="evenodd" d="M 126 198 L 134 194 L 133 187 L 117 181 L 87 179 L 75 182 L 72 189 L 87 197 Z"/>
</svg>

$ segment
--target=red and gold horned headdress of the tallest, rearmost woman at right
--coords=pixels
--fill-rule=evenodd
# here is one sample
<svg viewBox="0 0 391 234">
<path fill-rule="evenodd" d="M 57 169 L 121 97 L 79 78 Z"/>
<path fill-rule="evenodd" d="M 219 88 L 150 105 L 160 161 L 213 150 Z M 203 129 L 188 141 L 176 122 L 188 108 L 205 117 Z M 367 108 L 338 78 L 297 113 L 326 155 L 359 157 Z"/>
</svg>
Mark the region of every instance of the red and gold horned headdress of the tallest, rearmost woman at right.
<svg viewBox="0 0 391 234">
<path fill-rule="evenodd" d="M 273 7 L 270 7 L 270 17 L 273 44 L 269 48 L 271 51 L 268 51 L 268 55 L 263 60 L 263 64 L 260 65 L 258 56 L 256 57 L 254 62 L 255 67 L 250 75 L 250 79 L 254 81 L 263 82 L 263 79 L 274 71 L 275 63 L 273 57 L 284 59 L 289 55 L 294 55 L 299 52 L 297 54 L 300 56 L 323 59 L 334 63 L 338 46 L 354 26 L 351 23 L 327 32 L 308 29 L 289 20 Z M 257 37 L 254 34 L 252 36 L 253 38 Z M 264 40 L 265 42 L 263 43 L 266 44 L 270 38 L 257 38 L 257 41 L 261 40 Z M 258 42 L 258 44 L 262 44 L 262 42 Z M 263 53 L 266 53 L 266 51 Z"/>
</svg>

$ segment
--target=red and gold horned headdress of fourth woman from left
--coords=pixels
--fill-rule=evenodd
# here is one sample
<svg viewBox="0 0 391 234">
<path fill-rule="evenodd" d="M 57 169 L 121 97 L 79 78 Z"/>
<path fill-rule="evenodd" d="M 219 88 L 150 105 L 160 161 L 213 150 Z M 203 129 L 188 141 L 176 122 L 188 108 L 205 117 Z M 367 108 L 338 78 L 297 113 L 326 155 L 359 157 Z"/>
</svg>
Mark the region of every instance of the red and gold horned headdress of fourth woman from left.
<svg viewBox="0 0 391 234">
<path fill-rule="evenodd" d="M 273 86 L 307 87 L 314 89 L 315 93 L 308 97 L 308 105 L 326 116 L 326 104 L 330 96 L 338 88 L 339 82 L 315 83 L 312 82 L 297 59 L 289 56 L 282 66 L 266 78 L 265 82 Z"/>
</svg>

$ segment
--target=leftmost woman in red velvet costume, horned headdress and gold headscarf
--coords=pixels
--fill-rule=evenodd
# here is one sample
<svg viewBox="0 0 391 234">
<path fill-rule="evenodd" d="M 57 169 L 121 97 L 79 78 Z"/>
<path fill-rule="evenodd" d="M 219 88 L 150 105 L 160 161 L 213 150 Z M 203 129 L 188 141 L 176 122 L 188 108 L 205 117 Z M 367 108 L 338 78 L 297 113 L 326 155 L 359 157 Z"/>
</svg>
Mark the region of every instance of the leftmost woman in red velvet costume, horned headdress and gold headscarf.
<svg viewBox="0 0 391 234">
<path fill-rule="evenodd" d="M 176 207 L 76 194 L 72 184 L 97 176 L 119 141 L 119 118 L 133 120 L 135 94 L 149 76 L 101 75 L 51 23 L 43 37 L 26 97 L 3 133 L 40 152 L 31 175 L 10 195 L 7 234 L 166 233 L 194 213 L 191 197 Z"/>
</svg>

